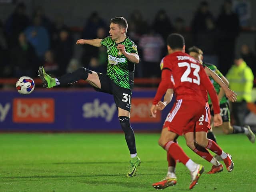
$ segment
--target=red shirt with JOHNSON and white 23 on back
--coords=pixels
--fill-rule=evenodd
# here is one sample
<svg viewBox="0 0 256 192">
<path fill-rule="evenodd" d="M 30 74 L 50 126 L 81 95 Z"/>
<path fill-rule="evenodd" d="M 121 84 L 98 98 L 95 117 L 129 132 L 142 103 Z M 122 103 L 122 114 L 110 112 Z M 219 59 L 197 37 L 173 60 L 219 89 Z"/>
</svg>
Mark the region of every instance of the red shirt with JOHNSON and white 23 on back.
<svg viewBox="0 0 256 192">
<path fill-rule="evenodd" d="M 160 67 L 162 70 L 170 70 L 177 100 L 196 100 L 205 103 L 200 85 L 207 81 L 208 76 L 197 60 L 178 51 L 164 57 Z M 210 82 L 209 78 L 208 81 Z"/>
</svg>

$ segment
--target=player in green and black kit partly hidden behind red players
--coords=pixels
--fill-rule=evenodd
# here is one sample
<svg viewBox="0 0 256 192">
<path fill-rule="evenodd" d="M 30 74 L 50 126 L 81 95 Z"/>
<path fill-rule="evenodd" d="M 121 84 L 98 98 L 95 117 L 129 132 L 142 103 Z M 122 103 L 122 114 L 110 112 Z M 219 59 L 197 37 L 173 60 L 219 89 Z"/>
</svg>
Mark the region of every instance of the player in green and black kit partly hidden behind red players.
<svg viewBox="0 0 256 192">
<path fill-rule="evenodd" d="M 189 49 L 190 55 L 196 55 L 196 57 L 202 62 L 203 60 L 203 52 L 199 48 L 193 46 Z M 217 69 L 217 67 L 213 64 L 208 64 L 203 62 L 204 66 L 210 68 L 212 71 L 214 71 L 221 79 L 222 81 L 228 86 L 229 82 L 228 80 L 222 75 L 222 73 Z M 254 143 L 255 142 L 255 135 L 253 134 L 252 130 L 250 129 L 250 126 L 236 126 L 230 124 L 230 110 L 229 110 L 229 104 L 228 99 L 225 96 L 224 90 L 221 88 L 221 86 L 211 77 L 209 76 L 217 94 L 218 94 L 218 100 L 220 102 L 220 115 L 222 116 L 223 124 L 220 126 L 223 130 L 224 134 L 237 134 L 237 133 L 244 133 L 249 138 L 249 140 Z M 208 104 L 211 108 L 212 101 L 210 99 L 210 96 L 208 95 Z M 213 116 L 213 110 L 211 110 L 211 115 Z M 208 137 L 212 140 L 214 140 L 212 137 L 214 137 L 212 132 L 208 132 Z M 215 140 L 216 141 L 216 140 Z"/>
</svg>

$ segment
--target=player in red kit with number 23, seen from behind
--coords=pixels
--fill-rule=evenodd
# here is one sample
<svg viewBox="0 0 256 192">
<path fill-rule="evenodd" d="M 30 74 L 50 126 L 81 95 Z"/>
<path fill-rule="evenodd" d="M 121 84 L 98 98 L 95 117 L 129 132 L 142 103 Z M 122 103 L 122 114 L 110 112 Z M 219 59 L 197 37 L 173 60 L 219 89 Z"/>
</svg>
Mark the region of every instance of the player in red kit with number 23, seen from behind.
<svg viewBox="0 0 256 192">
<path fill-rule="evenodd" d="M 184 134 L 187 145 L 194 146 L 194 126 L 205 111 L 205 97 L 200 90 L 200 84 L 207 88 L 213 102 L 218 103 L 218 98 L 204 68 L 194 58 L 184 53 L 184 38 L 179 34 L 171 34 L 167 43 L 169 55 L 164 58 L 162 79 L 153 104 L 161 100 L 168 88 L 174 89 L 176 102 L 166 118 L 158 143 L 168 152 L 168 157 L 172 158 L 171 163 L 175 164 L 178 160 L 190 170 L 189 188 L 192 189 L 204 172 L 204 167 L 193 162 L 184 153 L 176 143 L 176 138 Z M 171 79 L 175 85 L 172 85 Z M 214 111 L 220 113 L 218 104 L 214 106 Z M 216 122 L 216 124 L 221 123 L 221 120 Z M 166 177 L 153 186 L 156 189 L 163 189 L 174 184 L 176 184 L 176 176 Z"/>
</svg>

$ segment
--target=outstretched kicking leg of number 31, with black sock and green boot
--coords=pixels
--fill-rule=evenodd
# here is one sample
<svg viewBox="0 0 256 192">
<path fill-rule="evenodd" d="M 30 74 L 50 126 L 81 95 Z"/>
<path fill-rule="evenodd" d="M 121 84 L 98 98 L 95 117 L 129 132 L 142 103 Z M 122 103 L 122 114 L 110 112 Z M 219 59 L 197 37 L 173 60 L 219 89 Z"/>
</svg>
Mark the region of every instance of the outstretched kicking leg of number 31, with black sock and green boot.
<svg viewBox="0 0 256 192">
<path fill-rule="evenodd" d="M 78 80 L 86 80 L 92 86 L 96 88 L 100 88 L 100 80 L 98 74 L 94 71 L 90 71 L 86 68 L 78 68 L 74 72 L 67 73 L 58 78 L 52 78 L 48 75 L 43 66 L 40 66 L 38 69 L 38 76 L 43 82 L 43 87 L 52 88 L 58 85 L 67 85 L 77 82 Z"/>
</svg>

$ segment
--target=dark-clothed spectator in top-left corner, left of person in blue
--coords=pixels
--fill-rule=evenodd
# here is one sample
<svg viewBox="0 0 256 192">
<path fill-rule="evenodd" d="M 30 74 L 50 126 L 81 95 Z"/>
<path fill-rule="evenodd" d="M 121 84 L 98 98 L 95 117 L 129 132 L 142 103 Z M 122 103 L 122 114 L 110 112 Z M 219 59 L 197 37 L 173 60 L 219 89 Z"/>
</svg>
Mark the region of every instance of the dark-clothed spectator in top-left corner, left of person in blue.
<svg viewBox="0 0 256 192">
<path fill-rule="evenodd" d="M 5 30 L 10 46 L 18 43 L 19 34 L 29 25 L 29 19 L 26 15 L 26 5 L 19 3 L 14 12 L 6 21 Z"/>
</svg>

